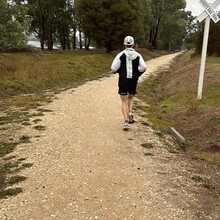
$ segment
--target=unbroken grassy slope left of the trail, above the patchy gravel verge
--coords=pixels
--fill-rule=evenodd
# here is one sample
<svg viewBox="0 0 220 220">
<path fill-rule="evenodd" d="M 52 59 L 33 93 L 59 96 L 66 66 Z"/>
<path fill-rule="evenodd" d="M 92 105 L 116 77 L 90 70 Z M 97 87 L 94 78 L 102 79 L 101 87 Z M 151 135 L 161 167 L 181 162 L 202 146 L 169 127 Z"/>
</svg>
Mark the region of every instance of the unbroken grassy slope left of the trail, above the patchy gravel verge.
<svg viewBox="0 0 220 220">
<path fill-rule="evenodd" d="M 0 54 L 0 95 L 40 93 L 48 89 L 76 86 L 109 71 L 113 54 L 104 52 L 45 52 Z"/>
</svg>

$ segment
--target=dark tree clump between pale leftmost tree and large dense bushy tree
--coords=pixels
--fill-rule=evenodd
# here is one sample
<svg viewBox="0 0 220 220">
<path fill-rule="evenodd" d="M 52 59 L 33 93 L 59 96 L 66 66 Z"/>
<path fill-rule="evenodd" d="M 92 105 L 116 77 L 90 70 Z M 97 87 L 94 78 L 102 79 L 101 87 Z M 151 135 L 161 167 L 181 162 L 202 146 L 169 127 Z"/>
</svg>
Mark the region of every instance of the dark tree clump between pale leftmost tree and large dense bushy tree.
<svg viewBox="0 0 220 220">
<path fill-rule="evenodd" d="M 66 48 L 69 40 L 72 4 L 70 1 L 28 0 L 28 15 L 32 18 L 32 31 L 49 50 L 53 49 L 54 41 L 59 41 Z"/>
</svg>

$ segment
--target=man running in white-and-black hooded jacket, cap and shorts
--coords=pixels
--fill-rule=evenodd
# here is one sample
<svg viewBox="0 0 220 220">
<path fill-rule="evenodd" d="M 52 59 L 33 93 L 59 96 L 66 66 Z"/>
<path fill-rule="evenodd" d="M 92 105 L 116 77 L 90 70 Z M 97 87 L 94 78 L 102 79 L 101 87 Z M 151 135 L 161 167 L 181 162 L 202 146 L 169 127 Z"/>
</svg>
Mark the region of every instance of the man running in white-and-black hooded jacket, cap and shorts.
<svg viewBox="0 0 220 220">
<path fill-rule="evenodd" d="M 134 38 L 127 36 L 124 39 L 125 50 L 120 52 L 112 62 L 111 70 L 119 73 L 118 94 L 122 101 L 124 116 L 124 130 L 134 122 L 133 97 L 136 94 L 138 78 L 146 71 L 146 64 L 141 54 L 134 50 Z"/>
</svg>

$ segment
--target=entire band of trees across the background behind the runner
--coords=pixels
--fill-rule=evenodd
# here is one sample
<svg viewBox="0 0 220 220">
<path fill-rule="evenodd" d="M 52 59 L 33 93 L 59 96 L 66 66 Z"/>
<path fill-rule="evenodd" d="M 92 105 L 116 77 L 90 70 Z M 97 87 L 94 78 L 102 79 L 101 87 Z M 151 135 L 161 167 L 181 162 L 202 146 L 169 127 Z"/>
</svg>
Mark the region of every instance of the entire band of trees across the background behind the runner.
<svg viewBox="0 0 220 220">
<path fill-rule="evenodd" d="M 202 28 L 185 0 L 0 0 L 0 47 L 23 47 L 30 31 L 41 49 L 122 49 L 126 35 L 133 35 L 139 47 L 159 50 L 191 48 L 200 52 Z M 195 33 L 198 31 L 197 38 Z M 209 54 L 219 54 L 219 24 L 212 24 Z"/>
</svg>

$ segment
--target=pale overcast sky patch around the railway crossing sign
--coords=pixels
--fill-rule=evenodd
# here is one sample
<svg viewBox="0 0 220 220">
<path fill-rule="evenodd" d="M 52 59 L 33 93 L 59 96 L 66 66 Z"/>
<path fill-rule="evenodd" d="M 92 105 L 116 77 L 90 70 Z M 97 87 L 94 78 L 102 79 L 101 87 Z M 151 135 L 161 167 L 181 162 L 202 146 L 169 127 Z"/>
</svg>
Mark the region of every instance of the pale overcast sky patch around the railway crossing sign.
<svg viewBox="0 0 220 220">
<path fill-rule="evenodd" d="M 215 0 L 207 0 L 208 3 L 213 3 Z M 218 7 L 220 10 L 220 7 Z M 200 15 L 204 9 L 199 0 L 186 0 L 186 11 L 191 11 L 193 16 Z"/>
</svg>

